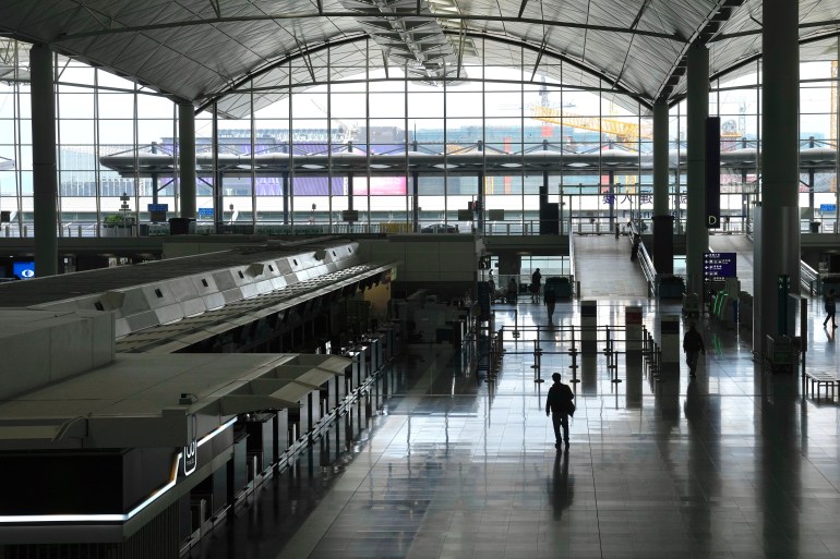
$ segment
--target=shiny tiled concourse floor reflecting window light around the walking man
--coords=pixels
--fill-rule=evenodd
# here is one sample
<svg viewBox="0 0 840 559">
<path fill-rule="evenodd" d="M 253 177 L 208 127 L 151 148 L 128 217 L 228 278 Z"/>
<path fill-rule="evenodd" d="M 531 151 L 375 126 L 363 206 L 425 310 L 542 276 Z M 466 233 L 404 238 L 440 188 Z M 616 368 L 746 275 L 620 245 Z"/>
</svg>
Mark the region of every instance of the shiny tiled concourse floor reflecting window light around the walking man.
<svg viewBox="0 0 840 559">
<path fill-rule="evenodd" d="M 601 301 L 600 324 L 643 305 Z M 297 466 L 265 484 L 202 558 L 821 558 L 840 557 L 837 401 L 803 398 L 799 377 L 766 373 L 749 332 L 700 320 L 707 354 L 655 378 L 640 357 L 572 361 L 568 327 L 533 325 L 543 306 L 497 305 L 500 375 L 469 352 L 413 349 Z M 836 373 L 835 331 L 812 303 L 808 368 Z M 518 338 L 514 338 L 514 323 Z M 614 349 L 624 351 L 621 340 Z M 579 340 L 578 340 L 579 343 Z M 576 365 L 576 368 L 572 368 Z M 571 448 L 554 449 L 550 380 L 577 379 Z M 614 381 L 614 380 L 620 381 Z"/>
</svg>

